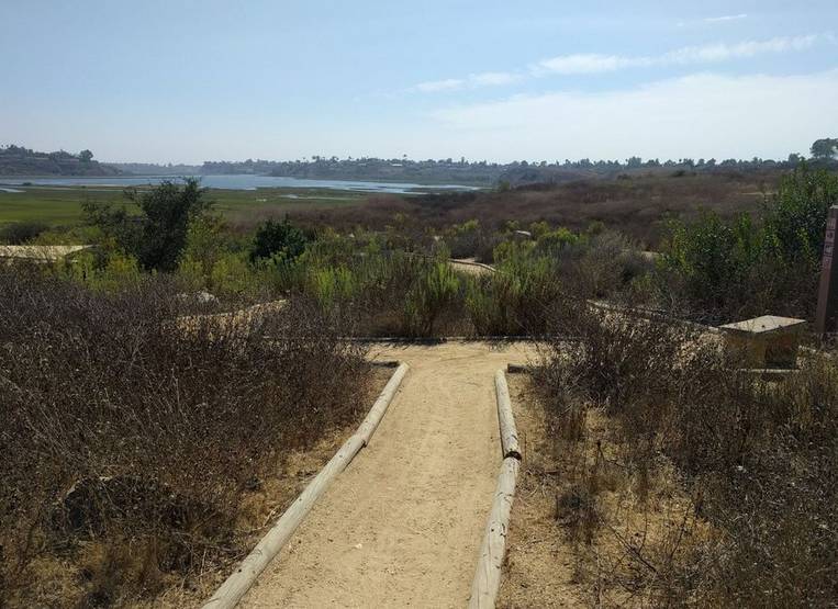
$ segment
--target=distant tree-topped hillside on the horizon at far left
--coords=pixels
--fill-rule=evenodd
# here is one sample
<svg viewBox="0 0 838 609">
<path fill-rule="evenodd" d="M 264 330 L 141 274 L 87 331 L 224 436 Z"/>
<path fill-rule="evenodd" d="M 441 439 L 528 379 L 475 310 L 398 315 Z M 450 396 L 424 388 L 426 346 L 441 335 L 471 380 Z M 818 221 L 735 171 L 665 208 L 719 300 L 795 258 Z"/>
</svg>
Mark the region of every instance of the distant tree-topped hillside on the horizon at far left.
<svg viewBox="0 0 838 609">
<path fill-rule="evenodd" d="M 93 160 L 90 150 L 40 153 L 22 146 L 0 148 L 0 176 L 119 176 L 122 171 Z"/>
</svg>

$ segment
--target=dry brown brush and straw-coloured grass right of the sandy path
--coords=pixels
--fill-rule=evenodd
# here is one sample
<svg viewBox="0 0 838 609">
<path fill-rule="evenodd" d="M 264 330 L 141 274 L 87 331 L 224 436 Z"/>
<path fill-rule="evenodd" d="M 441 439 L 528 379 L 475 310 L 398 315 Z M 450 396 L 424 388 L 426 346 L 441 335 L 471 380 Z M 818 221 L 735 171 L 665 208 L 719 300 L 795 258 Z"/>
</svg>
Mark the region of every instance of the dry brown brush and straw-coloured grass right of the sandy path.
<svg viewBox="0 0 838 609">
<path fill-rule="evenodd" d="M 557 515 L 600 602 L 837 598 L 838 370 L 736 372 L 683 325 L 569 306 L 541 371 L 566 454 Z"/>
</svg>

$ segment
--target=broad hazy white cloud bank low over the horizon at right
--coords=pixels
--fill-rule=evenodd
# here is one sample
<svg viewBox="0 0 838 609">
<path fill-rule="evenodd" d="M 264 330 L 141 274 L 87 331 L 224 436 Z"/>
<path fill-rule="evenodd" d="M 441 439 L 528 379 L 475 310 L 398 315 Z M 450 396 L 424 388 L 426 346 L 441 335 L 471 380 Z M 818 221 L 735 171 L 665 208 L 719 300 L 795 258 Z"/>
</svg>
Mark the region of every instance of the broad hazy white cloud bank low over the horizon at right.
<svg viewBox="0 0 838 609">
<path fill-rule="evenodd" d="M 835 131 L 838 70 L 699 74 L 630 90 L 560 91 L 440 109 L 425 134 L 474 158 L 783 158 Z"/>
</svg>

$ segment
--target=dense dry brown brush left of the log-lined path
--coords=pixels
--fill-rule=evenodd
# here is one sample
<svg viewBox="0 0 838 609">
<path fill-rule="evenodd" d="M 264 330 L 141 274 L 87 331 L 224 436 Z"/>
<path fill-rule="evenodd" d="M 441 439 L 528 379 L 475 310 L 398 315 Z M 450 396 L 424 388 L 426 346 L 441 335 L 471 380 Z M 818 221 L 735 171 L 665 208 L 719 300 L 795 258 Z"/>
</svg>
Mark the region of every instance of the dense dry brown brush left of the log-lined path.
<svg viewBox="0 0 838 609">
<path fill-rule="evenodd" d="M 362 351 L 313 307 L 185 332 L 183 306 L 164 280 L 0 270 L 0 605 L 189 587 L 245 550 L 239 506 L 283 451 L 355 415 Z"/>
</svg>

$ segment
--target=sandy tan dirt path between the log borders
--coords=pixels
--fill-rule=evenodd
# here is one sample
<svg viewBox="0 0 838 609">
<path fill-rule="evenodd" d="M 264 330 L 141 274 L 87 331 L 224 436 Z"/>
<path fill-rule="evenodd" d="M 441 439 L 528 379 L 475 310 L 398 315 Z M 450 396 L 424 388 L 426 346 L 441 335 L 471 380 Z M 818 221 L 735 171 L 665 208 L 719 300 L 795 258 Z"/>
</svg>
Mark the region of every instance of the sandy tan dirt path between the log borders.
<svg viewBox="0 0 838 609">
<path fill-rule="evenodd" d="M 244 607 L 463 607 L 501 462 L 493 374 L 525 346 L 380 349 L 411 371 Z"/>
</svg>

